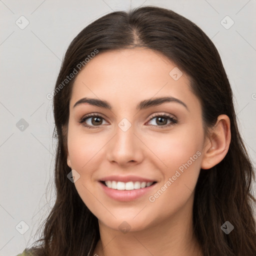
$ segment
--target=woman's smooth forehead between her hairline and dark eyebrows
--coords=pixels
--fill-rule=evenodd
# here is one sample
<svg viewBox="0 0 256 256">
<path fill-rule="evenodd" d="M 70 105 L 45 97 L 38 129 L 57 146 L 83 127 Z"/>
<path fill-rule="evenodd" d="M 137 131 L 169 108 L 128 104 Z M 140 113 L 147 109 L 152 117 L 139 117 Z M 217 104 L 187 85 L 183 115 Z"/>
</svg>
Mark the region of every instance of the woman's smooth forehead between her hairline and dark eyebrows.
<svg viewBox="0 0 256 256">
<path fill-rule="evenodd" d="M 136 104 L 142 98 L 195 97 L 189 77 L 175 63 L 159 52 L 139 47 L 99 52 L 93 57 L 75 78 L 70 105 L 85 96 L 114 100 L 119 106 Z"/>
</svg>

